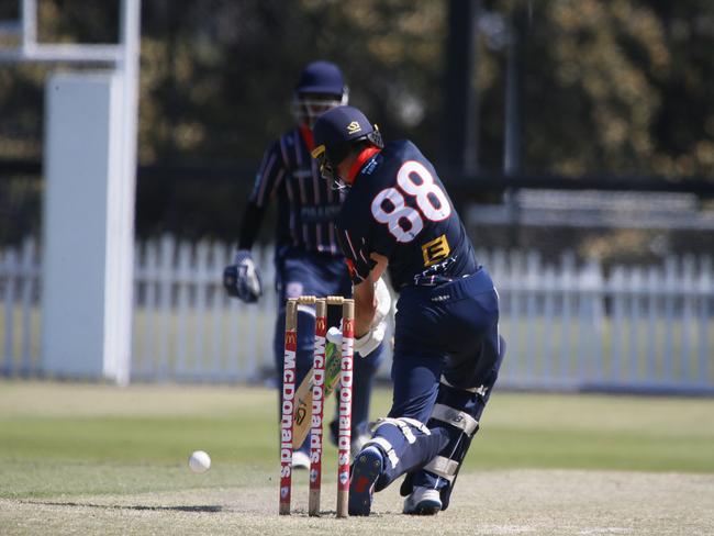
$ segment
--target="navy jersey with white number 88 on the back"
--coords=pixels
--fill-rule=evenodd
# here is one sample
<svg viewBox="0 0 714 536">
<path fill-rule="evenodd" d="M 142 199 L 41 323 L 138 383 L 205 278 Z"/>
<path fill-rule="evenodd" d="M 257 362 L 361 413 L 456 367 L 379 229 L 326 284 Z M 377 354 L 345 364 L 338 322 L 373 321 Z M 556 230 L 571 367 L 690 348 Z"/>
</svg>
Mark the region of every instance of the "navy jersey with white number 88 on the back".
<svg viewBox="0 0 714 536">
<path fill-rule="evenodd" d="M 473 247 L 434 166 L 409 141 L 367 160 L 355 177 L 336 221 L 355 283 L 389 259 L 394 289 L 437 284 L 476 271 Z"/>
</svg>

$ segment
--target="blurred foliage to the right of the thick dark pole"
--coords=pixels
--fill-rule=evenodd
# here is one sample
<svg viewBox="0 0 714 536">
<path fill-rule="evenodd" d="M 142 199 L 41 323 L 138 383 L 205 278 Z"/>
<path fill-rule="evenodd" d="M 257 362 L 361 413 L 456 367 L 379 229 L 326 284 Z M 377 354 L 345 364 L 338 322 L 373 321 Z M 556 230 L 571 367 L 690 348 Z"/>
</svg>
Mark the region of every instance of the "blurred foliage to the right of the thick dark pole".
<svg viewBox="0 0 714 536">
<path fill-rule="evenodd" d="M 525 169 L 714 174 L 714 105 L 705 97 L 714 90 L 711 3 L 494 4 L 521 29 Z M 501 58 L 481 52 L 483 143 L 491 148 L 483 154 L 500 157 L 504 81 L 493 63 Z"/>
</svg>

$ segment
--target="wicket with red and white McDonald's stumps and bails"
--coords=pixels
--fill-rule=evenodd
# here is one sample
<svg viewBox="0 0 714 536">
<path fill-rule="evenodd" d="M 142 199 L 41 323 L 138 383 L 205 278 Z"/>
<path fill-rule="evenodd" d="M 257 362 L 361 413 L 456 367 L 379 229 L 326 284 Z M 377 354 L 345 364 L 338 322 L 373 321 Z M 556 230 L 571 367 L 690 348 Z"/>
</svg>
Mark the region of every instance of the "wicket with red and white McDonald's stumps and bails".
<svg viewBox="0 0 714 536">
<path fill-rule="evenodd" d="M 352 443 L 352 387 L 355 343 L 355 301 L 336 295 L 303 295 L 289 299 L 286 306 L 286 344 L 282 372 L 282 417 L 280 421 L 280 515 L 290 514 L 292 492 L 292 427 L 298 349 L 298 305 L 315 305 L 315 346 L 310 429 L 310 494 L 308 513 L 320 515 L 322 482 L 322 427 L 325 380 L 327 306 L 341 305 L 343 339 L 339 375 L 339 432 L 337 437 L 337 517 L 347 517 L 349 496 L 349 449 Z"/>
</svg>

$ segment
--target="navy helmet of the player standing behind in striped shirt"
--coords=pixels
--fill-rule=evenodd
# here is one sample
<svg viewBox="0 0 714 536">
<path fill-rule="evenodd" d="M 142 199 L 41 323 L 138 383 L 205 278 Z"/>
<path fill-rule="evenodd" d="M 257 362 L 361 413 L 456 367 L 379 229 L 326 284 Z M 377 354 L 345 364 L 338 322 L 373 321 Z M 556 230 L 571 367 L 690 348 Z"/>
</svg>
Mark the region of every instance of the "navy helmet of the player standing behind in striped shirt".
<svg viewBox="0 0 714 536">
<path fill-rule="evenodd" d="M 299 123 L 312 129 L 321 113 L 347 104 L 348 99 L 349 90 L 339 67 L 330 62 L 312 62 L 300 72 L 292 111 Z"/>
</svg>

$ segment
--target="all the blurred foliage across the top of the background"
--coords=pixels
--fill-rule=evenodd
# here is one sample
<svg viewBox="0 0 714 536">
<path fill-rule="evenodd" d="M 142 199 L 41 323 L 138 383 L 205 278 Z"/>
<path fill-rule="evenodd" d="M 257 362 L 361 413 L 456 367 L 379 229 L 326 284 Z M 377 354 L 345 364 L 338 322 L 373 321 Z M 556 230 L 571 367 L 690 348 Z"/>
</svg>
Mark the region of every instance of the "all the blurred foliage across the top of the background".
<svg viewBox="0 0 714 536">
<path fill-rule="evenodd" d="M 523 168 L 714 172 L 714 4 L 705 0 L 484 1 L 520 30 Z M 118 9 L 40 2 L 45 42 L 112 42 Z M 388 137 L 439 145 L 448 2 L 144 2 L 140 157 L 257 163 L 291 124 L 300 69 L 343 66 L 353 103 Z M 503 49 L 479 62 L 481 160 L 501 161 Z M 41 154 L 46 67 L 0 71 L 0 157 Z"/>
</svg>

